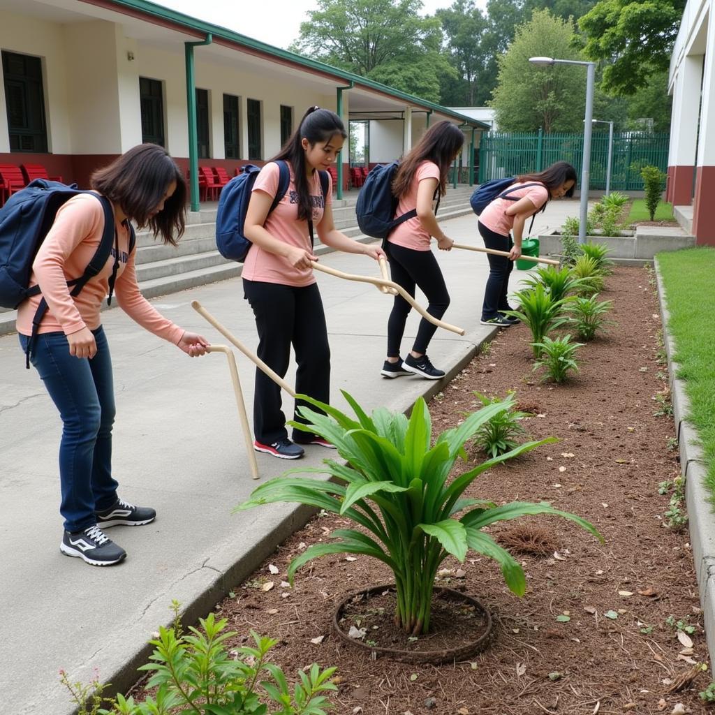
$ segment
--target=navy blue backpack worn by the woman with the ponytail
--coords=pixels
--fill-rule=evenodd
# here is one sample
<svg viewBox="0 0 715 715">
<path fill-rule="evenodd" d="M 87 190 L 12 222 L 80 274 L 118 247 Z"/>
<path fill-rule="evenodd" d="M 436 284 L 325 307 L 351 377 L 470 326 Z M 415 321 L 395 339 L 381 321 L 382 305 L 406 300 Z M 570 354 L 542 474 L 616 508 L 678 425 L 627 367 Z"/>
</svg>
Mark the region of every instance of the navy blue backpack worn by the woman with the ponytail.
<svg viewBox="0 0 715 715">
<path fill-rule="evenodd" d="M 268 213 L 272 212 L 280 203 L 280 199 L 285 196 L 290 184 L 290 170 L 288 164 L 277 159 L 279 175 L 278 189 L 275 194 Z M 256 178 L 261 170 L 255 164 L 245 164 L 239 169 L 239 174 L 233 177 L 221 191 L 219 207 L 216 214 L 216 246 L 220 254 L 229 260 L 242 263 L 246 260 L 246 255 L 251 247 L 251 242 L 243 232 L 243 225 L 246 220 L 248 203 L 251 200 L 251 190 Z M 320 188 L 322 197 L 327 197 L 327 186 L 330 177 L 327 172 L 320 172 Z M 315 242 L 313 237 L 312 221 L 308 221 L 310 230 L 310 243 Z"/>
</svg>

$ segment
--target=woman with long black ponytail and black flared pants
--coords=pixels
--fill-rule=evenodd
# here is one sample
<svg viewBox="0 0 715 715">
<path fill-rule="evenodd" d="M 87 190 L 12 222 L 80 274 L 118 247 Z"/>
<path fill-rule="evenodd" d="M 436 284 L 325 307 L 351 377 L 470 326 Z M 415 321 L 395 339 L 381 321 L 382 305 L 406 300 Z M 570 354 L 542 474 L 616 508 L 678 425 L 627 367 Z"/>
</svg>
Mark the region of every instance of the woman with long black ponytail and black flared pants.
<svg viewBox="0 0 715 715">
<path fill-rule="evenodd" d="M 244 297 L 254 312 L 257 355 L 283 377 L 295 350 L 295 390 L 324 403 L 330 400 L 330 347 L 320 290 L 312 271 L 314 227 L 325 245 L 378 260 L 383 251 L 363 245 L 335 228 L 332 183 L 322 181 L 337 160 L 347 133 L 340 117 L 329 109 L 310 107 L 296 132 L 276 157 L 263 167 L 252 187 L 244 233 L 252 242 L 243 267 Z M 286 162 L 290 184 L 273 210 L 280 167 Z M 322 175 L 322 178 L 321 178 Z M 300 406 L 296 403 L 296 410 Z M 295 420 L 305 419 L 295 413 Z M 332 448 L 318 435 L 285 428 L 280 388 L 256 370 L 253 398 L 254 448 L 280 459 L 297 459 L 301 445 Z"/>
</svg>

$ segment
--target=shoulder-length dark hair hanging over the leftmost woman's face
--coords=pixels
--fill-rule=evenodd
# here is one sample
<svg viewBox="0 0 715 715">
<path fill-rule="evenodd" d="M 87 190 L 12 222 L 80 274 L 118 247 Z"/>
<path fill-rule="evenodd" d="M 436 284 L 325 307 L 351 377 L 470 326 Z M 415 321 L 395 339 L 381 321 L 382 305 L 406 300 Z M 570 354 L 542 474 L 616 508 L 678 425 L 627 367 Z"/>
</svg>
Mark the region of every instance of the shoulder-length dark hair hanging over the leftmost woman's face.
<svg viewBox="0 0 715 715">
<path fill-rule="evenodd" d="M 171 182 L 176 182 L 176 191 L 164 202 L 164 208 L 151 216 Z M 118 204 L 137 226 L 149 226 L 154 237 L 161 235 L 165 244 L 177 245 L 184 233 L 186 182 L 164 147 L 139 144 L 129 149 L 108 167 L 97 169 L 89 185 Z"/>
</svg>

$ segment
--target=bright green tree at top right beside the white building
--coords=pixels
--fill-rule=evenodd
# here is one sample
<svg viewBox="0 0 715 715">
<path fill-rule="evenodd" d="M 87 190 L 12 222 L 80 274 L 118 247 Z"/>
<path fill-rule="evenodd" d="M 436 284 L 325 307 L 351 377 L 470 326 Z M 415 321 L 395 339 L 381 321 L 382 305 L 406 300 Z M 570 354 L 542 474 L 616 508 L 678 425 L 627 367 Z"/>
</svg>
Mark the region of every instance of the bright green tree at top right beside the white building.
<svg viewBox="0 0 715 715">
<path fill-rule="evenodd" d="M 578 21 L 588 59 L 603 60 L 601 87 L 633 94 L 668 69 L 685 0 L 601 0 Z"/>
</svg>

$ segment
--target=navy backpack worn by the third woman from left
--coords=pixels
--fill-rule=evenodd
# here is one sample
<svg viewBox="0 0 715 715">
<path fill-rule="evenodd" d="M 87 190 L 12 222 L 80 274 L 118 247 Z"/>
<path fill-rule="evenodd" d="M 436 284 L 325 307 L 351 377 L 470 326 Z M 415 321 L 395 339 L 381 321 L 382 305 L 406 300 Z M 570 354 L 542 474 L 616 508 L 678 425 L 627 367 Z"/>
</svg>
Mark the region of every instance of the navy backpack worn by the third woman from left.
<svg viewBox="0 0 715 715">
<path fill-rule="evenodd" d="M 358 215 L 358 226 L 366 236 L 384 240 L 401 223 L 417 215 L 417 209 L 412 209 L 395 218 L 400 199 L 393 196 L 392 185 L 399 166 L 400 162 L 378 164 L 370 169 L 368 178 L 360 189 L 355 213 Z M 438 199 L 436 213 L 439 207 L 439 187 L 435 194 Z"/>
</svg>

